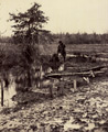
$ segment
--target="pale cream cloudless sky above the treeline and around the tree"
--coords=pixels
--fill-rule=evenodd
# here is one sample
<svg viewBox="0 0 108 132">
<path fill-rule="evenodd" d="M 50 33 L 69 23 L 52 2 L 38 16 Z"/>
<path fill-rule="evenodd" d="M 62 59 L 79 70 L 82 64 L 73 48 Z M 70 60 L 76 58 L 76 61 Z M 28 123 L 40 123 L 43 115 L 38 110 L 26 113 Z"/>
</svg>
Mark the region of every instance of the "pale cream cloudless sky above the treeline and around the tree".
<svg viewBox="0 0 108 132">
<path fill-rule="evenodd" d="M 9 12 L 25 12 L 34 2 L 48 16 L 44 29 L 52 33 L 108 33 L 108 0 L 0 0 L 0 35 L 12 35 Z"/>
</svg>

